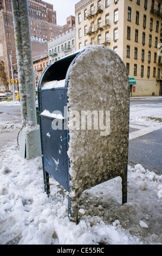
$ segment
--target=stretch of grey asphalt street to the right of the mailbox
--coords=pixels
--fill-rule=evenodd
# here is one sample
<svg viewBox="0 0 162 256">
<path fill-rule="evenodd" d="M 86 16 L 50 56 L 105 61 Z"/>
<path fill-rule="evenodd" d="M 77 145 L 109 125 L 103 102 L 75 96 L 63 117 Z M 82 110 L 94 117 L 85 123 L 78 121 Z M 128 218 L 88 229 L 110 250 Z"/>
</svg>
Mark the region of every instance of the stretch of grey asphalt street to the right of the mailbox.
<svg viewBox="0 0 162 256">
<path fill-rule="evenodd" d="M 162 99 L 131 99 L 131 106 L 161 108 Z M 129 128 L 129 134 L 138 129 Z M 128 164 L 141 164 L 144 168 L 162 173 L 162 129 L 152 131 L 129 141 Z"/>
</svg>

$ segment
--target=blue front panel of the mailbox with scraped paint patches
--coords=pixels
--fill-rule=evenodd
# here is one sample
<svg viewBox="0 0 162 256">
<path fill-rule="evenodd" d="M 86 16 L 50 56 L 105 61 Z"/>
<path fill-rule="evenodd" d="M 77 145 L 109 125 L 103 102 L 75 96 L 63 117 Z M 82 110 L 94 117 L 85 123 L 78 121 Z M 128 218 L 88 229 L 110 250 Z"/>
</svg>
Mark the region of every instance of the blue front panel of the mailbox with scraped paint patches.
<svg viewBox="0 0 162 256">
<path fill-rule="evenodd" d="M 41 101 L 41 112 L 47 109 L 50 113 L 60 111 L 64 116 L 64 106 L 67 104 L 65 89 L 42 90 Z M 43 172 L 49 173 L 66 190 L 69 190 L 67 168 L 68 130 L 64 129 L 65 121 L 40 115 Z M 57 126 L 58 129 L 56 129 Z"/>
</svg>

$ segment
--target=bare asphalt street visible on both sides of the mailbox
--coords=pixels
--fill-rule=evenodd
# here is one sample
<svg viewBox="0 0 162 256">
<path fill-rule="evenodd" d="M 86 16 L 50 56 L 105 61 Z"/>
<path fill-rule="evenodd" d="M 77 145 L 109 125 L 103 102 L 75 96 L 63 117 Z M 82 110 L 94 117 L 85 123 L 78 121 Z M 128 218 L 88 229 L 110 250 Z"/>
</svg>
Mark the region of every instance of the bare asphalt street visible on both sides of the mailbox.
<svg viewBox="0 0 162 256">
<path fill-rule="evenodd" d="M 162 110 L 162 100 L 131 100 L 130 105 L 144 107 L 159 107 Z M 0 121 L 8 121 L 21 124 L 20 105 L 0 105 Z M 130 127 L 129 134 L 137 131 L 137 127 Z M 0 131 L 0 148 L 11 139 L 16 139 L 15 131 Z M 146 135 L 131 139 L 129 141 L 128 164 L 134 166 L 141 164 L 144 168 L 162 173 L 162 129 L 152 131 Z"/>
</svg>

